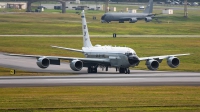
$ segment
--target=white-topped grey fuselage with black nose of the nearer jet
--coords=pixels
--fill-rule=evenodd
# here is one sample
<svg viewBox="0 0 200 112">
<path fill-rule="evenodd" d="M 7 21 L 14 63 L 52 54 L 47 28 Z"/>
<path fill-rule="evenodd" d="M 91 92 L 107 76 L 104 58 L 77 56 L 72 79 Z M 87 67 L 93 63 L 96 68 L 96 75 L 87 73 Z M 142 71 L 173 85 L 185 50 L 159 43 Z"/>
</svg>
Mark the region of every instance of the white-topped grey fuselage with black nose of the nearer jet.
<svg viewBox="0 0 200 112">
<path fill-rule="evenodd" d="M 94 47 L 83 47 L 82 49 L 86 58 L 110 60 L 110 65 L 103 66 L 128 68 L 130 66 L 136 66 L 139 63 L 136 52 L 128 47 L 98 45 Z"/>
</svg>

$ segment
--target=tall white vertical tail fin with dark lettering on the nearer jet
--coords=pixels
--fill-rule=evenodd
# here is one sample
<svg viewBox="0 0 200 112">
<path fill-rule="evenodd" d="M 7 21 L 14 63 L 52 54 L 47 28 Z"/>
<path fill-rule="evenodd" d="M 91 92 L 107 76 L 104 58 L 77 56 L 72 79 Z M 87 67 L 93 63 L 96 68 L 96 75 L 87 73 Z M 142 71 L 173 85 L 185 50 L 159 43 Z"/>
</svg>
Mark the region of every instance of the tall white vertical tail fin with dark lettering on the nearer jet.
<svg viewBox="0 0 200 112">
<path fill-rule="evenodd" d="M 83 47 L 92 47 L 92 43 L 90 41 L 88 27 L 86 23 L 84 10 L 81 13 L 82 18 L 82 29 L 83 29 Z"/>
</svg>

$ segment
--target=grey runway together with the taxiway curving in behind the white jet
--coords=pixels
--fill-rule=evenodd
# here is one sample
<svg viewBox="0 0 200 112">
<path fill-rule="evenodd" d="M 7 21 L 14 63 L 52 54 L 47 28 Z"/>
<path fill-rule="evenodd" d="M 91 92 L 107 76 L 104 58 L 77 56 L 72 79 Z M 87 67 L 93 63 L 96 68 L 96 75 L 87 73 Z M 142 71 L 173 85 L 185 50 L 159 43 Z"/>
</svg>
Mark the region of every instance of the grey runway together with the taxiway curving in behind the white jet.
<svg viewBox="0 0 200 112">
<path fill-rule="evenodd" d="M 0 87 L 38 86 L 200 86 L 200 73 L 131 70 L 119 74 L 115 69 L 108 72 L 98 69 L 97 74 L 87 74 L 84 68 L 72 71 L 67 63 L 40 69 L 36 59 L 12 57 L 0 54 L 0 66 L 31 72 L 73 73 L 70 76 L 1 76 Z"/>
</svg>

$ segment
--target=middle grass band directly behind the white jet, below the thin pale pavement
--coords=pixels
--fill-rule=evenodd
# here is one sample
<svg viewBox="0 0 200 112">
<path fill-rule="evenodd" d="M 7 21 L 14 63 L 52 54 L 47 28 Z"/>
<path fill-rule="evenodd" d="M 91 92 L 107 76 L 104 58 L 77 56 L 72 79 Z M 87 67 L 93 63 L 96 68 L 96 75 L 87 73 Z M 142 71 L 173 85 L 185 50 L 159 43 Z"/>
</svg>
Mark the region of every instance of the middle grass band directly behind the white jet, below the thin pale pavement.
<svg viewBox="0 0 200 112">
<path fill-rule="evenodd" d="M 84 57 L 82 53 L 51 48 L 51 45 L 81 49 L 82 38 L 59 37 L 0 37 L 0 51 L 8 53 L 52 55 L 68 57 Z M 133 48 L 139 57 L 191 53 L 180 58 L 178 68 L 170 68 L 166 60 L 160 64 L 159 70 L 200 71 L 200 39 L 199 38 L 91 38 L 92 44 L 127 46 Z M 133 69 L 147 69 L 145 62 Z"/>
</svg>

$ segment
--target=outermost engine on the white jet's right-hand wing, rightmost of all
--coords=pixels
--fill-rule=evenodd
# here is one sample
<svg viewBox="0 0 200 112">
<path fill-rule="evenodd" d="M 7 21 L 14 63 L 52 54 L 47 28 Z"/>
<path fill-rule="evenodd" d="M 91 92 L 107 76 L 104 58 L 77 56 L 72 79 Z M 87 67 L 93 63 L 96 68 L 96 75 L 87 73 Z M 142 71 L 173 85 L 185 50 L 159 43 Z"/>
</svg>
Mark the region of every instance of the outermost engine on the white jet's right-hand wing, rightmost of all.
<svg viewBox="0 0 200 112">
<path fill-rule="evenodd" d="M 171 68 L 176 68 L 178 67 L 180 61 L 177 57 L 170 57 L 167 59 L 167 64 L 171 67 Z"/>
</svg>

